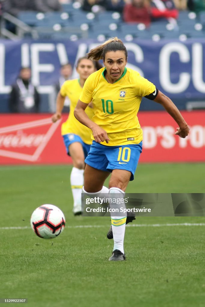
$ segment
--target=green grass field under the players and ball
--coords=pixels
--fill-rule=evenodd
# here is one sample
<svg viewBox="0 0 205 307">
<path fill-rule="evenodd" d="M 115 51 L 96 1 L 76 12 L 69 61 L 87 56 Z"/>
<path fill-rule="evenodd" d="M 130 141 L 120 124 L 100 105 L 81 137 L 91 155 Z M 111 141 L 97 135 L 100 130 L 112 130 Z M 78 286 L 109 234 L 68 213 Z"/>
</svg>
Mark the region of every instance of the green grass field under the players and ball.
<svg viewBox="0 0 205 307">
<path fill-rule="evenodd" d="M 0 298 L 28 298 L 30 307 L 204 306 L 205 227 L 162 224 L 205 218 L 139 217 L 132 224 L 144 226 L 126 227 L 126 261 L 108 262 L 110 220 L 72 215 L 71 168 L 0 168 Z M 204 173 L 202 163 L 141 164 L 127 192 L 203 193 Z M 66 218 L 54 240 L 40 239 L 30 228 L 32 212 L 46 203 Z"/>
</svg>

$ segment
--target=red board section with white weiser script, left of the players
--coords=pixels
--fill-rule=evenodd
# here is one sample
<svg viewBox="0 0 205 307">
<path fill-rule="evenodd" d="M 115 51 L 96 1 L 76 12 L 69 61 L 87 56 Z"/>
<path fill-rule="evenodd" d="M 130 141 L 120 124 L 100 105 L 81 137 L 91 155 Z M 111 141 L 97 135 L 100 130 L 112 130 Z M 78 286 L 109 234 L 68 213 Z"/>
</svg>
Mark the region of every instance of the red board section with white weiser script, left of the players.
<svg viewBox="0 0 205 307">
<path fill-rule="evenodd" d="M 62 120 L 52 123 L 50 114 L 1 115 L 0 119 L 0 164 L 71 162 L 61 137 Z"/>
</svg>

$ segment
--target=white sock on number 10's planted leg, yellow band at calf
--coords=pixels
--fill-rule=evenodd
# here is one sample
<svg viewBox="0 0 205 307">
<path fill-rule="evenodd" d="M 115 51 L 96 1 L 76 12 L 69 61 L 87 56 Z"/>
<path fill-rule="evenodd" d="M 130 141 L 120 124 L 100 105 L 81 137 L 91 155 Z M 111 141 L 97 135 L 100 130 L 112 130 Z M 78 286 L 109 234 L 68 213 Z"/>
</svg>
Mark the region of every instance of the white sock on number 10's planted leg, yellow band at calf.
<svg viewBox="0 0 205 307">
<path fill-rule="evenodd" d="M 116 195 L 117 194 L 117 195 Z M 124 198 L 124 191 L 120 190 L 119 188 L 110 188 L 109 189 L 109 198 Z M 114 203 L 112 201 L 112 203 Z M 116 208 L 116 205 L 113 206 L 110 203 L 110 208 Z M 124 201 L 120 203 L 120 208 L 125 208 Z M 113 233 L 113 240 L 114 240 L 114 250 L 119 250 L 124 254 L 124 233 L 125 233 L 125 223 L 126 223 L 126 216 L 112 216 L 111 213 L 111 222 L 112 222 L 112 233 Z"/>
</svg>

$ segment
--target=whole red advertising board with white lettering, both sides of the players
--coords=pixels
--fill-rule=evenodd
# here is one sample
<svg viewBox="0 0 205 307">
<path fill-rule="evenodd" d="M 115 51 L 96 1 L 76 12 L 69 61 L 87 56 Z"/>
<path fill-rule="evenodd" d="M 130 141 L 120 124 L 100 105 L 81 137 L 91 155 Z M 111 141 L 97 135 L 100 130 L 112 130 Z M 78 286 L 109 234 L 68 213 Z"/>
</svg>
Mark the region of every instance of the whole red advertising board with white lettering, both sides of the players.
<svg viewBox="0 0 205 307">
<path fill-rule="evenodd" d="M 205 161 L 205 111 L 181 112 L 190 134 L 179 138 L 177 124 L 165 111 L 139 112 L 143 129 L 140 162 Z M 0 164 L 71 163 L 61 137 L 61 121 L 47 114 L 0 115 Z"/>
</svg>

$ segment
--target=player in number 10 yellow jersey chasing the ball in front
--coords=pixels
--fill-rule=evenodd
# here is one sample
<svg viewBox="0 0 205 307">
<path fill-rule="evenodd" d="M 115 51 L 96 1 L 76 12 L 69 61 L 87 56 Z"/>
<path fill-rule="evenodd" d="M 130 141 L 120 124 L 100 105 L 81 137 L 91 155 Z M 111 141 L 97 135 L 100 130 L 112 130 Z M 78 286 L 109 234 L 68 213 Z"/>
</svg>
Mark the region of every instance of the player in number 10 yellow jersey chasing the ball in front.
<svg viewBox="0 0 205 307">
<path fill-rule="evenodd" d="M 88 58 L 103 59 L 105 68 L 94 72 L 85 81 L 74 110 L 75 117 L 93 132 L 93 143 L 85 159 L 83 191 L 100 195 L 105 179 L 112 172 L 109 198 L 121 199 L 128 182 L 134 179 L 142 151 L 143 135 L 137 118 L 142 97 L 165 108 L 179 125 L 175 134 L 181 138 L 188 135 L 189 127 L 167 96 L 138 72 L 125 67 L 127 50 L 120 39 L 112 38 L 92 49 Z M 95 113 L 92 120 L 85 113 L 91 101 Z M 125 260 L 125 223 L 126 216 L 111 214 L 114 248 L 110 261 Z"/>
</svg>

